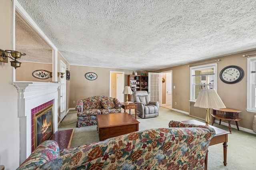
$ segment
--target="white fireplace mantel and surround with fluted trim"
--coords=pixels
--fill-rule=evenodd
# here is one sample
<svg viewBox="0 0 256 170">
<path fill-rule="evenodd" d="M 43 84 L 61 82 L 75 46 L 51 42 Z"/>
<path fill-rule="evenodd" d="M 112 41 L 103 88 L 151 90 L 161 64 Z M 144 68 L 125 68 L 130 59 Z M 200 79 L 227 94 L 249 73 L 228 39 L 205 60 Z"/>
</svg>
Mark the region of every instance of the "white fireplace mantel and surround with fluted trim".
<svg viewBox="0 0 256 170">
<path fill-rule="evenodd" d="M 58 130 L 58 87 L 60 83 L 18 81 L 18 117 L 20 117 L 20 163 L 31 154 L 31 109 L 54 100 L 54 133 Z"/>
</svg>

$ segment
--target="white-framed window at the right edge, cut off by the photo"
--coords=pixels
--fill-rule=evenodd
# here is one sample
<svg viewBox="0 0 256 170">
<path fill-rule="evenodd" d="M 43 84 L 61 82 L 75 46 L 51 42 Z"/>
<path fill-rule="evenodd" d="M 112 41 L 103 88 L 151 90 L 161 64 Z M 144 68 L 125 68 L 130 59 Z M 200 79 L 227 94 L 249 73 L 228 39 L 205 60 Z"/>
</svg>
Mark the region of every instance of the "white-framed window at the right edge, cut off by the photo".
<svg viewBox="0 0 256 170">
<path fill-rule="evenodd" d="M 256 57 L 247 59 L 247 111 L 256 113 Z"/>
</svg>

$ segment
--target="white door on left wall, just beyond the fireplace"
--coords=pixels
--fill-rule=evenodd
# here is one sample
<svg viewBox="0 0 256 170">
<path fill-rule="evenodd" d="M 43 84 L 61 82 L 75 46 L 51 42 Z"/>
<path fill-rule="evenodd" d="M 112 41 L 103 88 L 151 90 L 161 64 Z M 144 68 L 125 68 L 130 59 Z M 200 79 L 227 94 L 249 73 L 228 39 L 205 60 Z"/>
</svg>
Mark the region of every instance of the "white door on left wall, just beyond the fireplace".
<svg viewBox="0 0 256 170">
<path fill-rule="evenodd" d="M 63 61 L 60 61 L 60 72 L 65 73 L 63 78 L 60 79 L 60 120 L 66 116 L 66 64 Z"/>
</svg>

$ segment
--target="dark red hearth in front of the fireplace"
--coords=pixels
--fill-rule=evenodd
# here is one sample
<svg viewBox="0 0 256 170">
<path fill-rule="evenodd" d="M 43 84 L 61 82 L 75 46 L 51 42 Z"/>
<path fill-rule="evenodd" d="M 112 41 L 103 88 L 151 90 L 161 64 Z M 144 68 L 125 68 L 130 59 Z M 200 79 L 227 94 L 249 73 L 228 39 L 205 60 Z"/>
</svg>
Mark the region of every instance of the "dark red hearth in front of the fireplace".
<svg viewBox="0 0 256 170">
<path fill-rule="evenodd" d="M 70 148 L 73 139 L 75 129 L 58 130 L 56 131 L 50 140 L 55 140 L 60 149 Z"/>
</svg>

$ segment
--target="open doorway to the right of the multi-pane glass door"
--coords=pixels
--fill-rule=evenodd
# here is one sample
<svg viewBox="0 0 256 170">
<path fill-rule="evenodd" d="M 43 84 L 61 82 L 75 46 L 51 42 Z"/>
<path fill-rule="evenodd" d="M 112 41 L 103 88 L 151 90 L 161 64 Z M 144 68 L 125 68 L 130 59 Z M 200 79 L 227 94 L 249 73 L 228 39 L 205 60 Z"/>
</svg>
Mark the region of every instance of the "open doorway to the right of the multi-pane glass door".
<svg viewBox="0 0 256 170">
<path fill-rule="evenodd" d="M 162 107 L 172 109 L 172 71 L 161 73 Z"/>
</svg>

